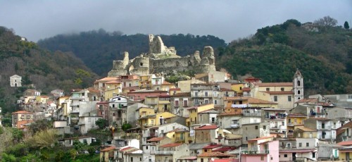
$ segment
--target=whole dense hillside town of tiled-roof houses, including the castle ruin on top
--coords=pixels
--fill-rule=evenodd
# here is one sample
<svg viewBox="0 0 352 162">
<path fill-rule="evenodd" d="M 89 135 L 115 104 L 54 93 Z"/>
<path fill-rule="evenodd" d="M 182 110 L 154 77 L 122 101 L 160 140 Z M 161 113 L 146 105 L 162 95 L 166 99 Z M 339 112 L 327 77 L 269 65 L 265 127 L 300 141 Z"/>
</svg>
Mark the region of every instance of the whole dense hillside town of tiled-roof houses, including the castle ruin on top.
<svg viewBox="0 0 352 162">
<path fill-rule="evenodd" d="M 187 70 L 196 75 L 166 81 Z M 91 87 L 47 95 L 26 89 L 12 127 L 25 132 L 51 121 L 58 147 L 98 142 L 89 151 L 99 161 L 350 160 L 352 94 L 305 96 L 301 72 L 289 82 L 233 80 L 216 71 L 211 46 L 181 57 L 149 35 L 148 52 L 130 59 L 126 51 Z M 21 80 L 14 74 L 9 84 L 18 88 Z"/>
</svg>

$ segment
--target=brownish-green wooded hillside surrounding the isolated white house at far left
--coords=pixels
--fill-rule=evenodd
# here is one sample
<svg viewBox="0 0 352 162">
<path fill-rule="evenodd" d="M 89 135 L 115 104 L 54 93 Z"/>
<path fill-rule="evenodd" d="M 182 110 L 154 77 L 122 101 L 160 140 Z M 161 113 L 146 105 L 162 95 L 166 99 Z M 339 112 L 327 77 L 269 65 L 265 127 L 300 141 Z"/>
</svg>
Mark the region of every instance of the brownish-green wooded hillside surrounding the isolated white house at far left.
<svg viewBox="0 0 352 162">
<path fill-rule="evenodd" d="M 10 77 L 20 75 L 23 87 L 10 87 Z M 71 53 L 45 51 L 34 42 L 21 40 L 12 30 L 0 27 L 0 107 L 14 111 L 15 101 L 33 84 L 42 94 L 54 89 L 83 88 L 97 78 Z"/>
</svg>

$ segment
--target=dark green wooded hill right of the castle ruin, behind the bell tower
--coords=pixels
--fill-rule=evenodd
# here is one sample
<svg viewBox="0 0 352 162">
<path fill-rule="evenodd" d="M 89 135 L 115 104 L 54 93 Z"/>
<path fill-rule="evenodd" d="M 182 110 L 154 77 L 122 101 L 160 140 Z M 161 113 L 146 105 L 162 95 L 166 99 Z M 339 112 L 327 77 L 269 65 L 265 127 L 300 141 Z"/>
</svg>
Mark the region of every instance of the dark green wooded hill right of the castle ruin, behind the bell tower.
<svg viewBox="0 0 352 162">
<path fill-rule="evenodd" d="M 219 49 L 218 68 L 263 82 L 291 82 L 298 68 L 305 95 L 352 93 L 351 38 L 351 30 L 344 27 L 319 22 L 307 27 L 287 20 Z"/>
</svg>

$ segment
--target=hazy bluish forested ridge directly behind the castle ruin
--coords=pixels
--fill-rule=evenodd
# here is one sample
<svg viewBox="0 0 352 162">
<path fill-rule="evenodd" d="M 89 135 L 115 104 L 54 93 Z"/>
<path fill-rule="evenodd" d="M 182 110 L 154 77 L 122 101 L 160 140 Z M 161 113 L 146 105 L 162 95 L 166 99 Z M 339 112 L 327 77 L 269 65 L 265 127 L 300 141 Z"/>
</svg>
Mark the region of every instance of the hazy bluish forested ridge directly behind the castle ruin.
<svg viewBox="0 0 352 162">
<path fill-rule="evenodd" d="M 187 56 L 194 51 L 202 51 L 204 46 L 214 49 L 225 47 L 225 41 L 212 35 L 161 35 L 165 46 L 175 46 L 177 54 Z M 39 46 L 51 51 L 72 51 L 75 56 L 95 73 L 105 76 L 113 66 L 113 60 L 121 60 L 124 51 L 130 58 L 149 51 L 148 35 L 122 35 L 121 32 L 93 30 L 73 35 L 57 35 L 39 40 Z"/>
</svg>

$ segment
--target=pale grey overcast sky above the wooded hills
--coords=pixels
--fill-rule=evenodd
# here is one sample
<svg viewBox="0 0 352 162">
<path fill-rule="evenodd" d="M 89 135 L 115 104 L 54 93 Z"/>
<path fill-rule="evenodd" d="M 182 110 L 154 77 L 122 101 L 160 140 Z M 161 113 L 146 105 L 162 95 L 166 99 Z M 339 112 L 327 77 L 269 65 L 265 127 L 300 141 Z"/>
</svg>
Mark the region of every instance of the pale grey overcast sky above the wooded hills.
<svg viewBox="0 0 352 162">
<path fill-rule="evenodd" d="M 329 15 L 352 26 L 352 1 L 0 0 L 0 26 L 30 41 L 103 28 L 125 35 L 214 35 L 230 42 L 268 25 Z"/>
</svg>

